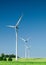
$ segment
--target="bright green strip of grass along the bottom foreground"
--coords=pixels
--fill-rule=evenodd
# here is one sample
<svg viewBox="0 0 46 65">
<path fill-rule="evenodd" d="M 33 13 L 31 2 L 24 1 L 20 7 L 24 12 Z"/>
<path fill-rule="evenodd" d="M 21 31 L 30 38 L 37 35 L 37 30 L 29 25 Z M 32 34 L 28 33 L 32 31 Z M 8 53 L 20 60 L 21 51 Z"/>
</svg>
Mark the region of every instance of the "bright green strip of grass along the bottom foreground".
<svg viewBox="0 0 46 65">
<path fill-rule="evenodd" d="M 46 62 L 0 62 L 0 65 L 46 65 Z"/>
</svg>

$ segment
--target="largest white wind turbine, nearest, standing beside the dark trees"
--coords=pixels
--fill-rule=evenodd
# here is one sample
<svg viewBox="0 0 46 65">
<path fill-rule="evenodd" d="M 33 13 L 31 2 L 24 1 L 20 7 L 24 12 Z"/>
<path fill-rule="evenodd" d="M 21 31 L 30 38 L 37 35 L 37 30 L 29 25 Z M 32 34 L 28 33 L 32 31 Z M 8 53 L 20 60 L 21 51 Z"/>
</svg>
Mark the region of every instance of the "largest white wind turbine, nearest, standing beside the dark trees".
<svg viewBox="0 0 46 65">
<path fill-rule="evenodd" d="M 21 17 L 19 18 L 19 20 L 17 21 L 15 26 L 12 26 L 12 25 L 8 25 L 7 26 L 9 28 L 15 29 L 15 31 L 16 31 L 16 61 L 17 61 L 17 55 L 18 55 L 18 49 L 17 49 L 18 48 L 18 25 L 19 25 L 19 23 L 20 23 L 20 21 L 22 19 L 22 16 L 23 15 L 21 15 Z"/>
</svg>

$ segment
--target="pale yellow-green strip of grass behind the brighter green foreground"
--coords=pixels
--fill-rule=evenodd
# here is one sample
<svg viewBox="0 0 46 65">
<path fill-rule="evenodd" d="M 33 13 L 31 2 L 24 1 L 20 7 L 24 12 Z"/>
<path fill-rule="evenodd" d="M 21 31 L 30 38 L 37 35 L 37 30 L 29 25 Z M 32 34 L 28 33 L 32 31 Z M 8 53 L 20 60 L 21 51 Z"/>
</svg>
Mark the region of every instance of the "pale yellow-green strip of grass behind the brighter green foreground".
<svg viewBox="0 0 46 65">
<path fill-rule="evenodd" d="M 21 61 L 21 62 L 46 62 L 46 58 L 26 58 L 26 59 L 18 59 L 18 61 Z"/>
</svg>

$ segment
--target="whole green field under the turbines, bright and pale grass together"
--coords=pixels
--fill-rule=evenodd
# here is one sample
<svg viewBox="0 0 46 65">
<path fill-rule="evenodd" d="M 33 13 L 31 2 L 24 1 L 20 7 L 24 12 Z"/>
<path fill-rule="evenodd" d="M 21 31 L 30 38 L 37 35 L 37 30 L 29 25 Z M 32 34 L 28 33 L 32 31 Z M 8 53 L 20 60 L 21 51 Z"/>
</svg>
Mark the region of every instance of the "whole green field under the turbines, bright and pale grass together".
<svg viewBox="0 0 46 65">
<path fill-rule="evenodd" d="M 46 58 L 18 59 L 18 61 L 0 61 L 0 65 L 46 65 Z"/>
</svg>

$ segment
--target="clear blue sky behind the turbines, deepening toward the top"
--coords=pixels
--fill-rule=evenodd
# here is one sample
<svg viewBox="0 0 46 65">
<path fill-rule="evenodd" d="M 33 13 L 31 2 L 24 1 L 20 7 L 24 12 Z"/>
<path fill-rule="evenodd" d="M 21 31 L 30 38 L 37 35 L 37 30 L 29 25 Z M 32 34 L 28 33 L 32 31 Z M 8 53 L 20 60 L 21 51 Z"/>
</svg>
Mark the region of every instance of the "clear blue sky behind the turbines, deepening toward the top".
<svg viewBox="0 0 46 65">
<path fill-rule="evenodd" d="M 18 56 L 24 57 L 24 42 L 28 42 L 30 57 L 46 57 L 46 0 L 0 0 L 0 54 L 15 54 L 15 30 L 6 25 L 15 25 L 19 17 Z"/>
</svg>

